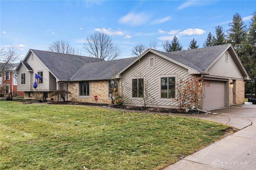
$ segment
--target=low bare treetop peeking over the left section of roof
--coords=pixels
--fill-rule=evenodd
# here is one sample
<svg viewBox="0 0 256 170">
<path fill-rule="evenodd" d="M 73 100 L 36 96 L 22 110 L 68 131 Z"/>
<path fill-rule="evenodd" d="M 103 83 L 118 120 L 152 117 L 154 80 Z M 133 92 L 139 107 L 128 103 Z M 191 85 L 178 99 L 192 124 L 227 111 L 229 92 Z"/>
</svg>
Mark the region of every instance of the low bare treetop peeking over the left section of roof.
<svg viewBox="0 0 256 170">
<path fill-rule="evenodd" d="M 80 55 L 78 49 L 74 49 L 70 46 L 70 43 L 65 40 L 56 40 L 48 46 L 48 50 L 56 53 L 65 53 L 65 54 L 76 54 Z"/>
</svg>

